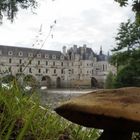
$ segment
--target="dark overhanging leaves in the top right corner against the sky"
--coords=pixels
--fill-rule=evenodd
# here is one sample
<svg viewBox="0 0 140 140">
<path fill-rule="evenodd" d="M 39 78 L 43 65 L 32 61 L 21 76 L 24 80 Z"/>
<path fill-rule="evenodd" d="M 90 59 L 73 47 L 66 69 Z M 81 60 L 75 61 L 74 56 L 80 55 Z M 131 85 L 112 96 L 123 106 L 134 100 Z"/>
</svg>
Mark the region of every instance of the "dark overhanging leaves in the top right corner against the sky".
<svg viewBox="0 0 140 140">
<path fill-rule="evenodd" d="M 127 6 L 128 0 L 115 0 L 120 6 Z M 136 22 L 140 24 L 140 0 L 133 0 L 132 11 L 135 12 Z"/>
</svg>

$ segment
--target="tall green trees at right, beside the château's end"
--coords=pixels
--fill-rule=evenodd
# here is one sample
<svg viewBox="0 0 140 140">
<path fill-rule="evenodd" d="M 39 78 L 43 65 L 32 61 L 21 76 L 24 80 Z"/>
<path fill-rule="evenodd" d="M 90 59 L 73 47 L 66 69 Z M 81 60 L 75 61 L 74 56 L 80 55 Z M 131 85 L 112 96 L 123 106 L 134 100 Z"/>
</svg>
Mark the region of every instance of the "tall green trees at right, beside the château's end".
<svg viewBox="0 0 140 140">
<path fill-rule="evenodd" d="M 122 23 L 115 39 L 111 58 L 118 68 L 115 87 L 140 86 L 140 26 L 136 22 Z"/>
</svg>

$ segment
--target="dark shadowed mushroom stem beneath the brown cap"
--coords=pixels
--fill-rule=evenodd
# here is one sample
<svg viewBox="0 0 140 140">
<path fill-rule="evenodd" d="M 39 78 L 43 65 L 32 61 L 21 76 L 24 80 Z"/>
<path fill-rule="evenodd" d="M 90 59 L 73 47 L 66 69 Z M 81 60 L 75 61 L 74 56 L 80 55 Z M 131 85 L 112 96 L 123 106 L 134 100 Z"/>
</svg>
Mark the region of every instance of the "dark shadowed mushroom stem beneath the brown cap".
<svg viewBox="0 0 140 140">
<path fill-rule="evenodd" d="M 98 140 L 131 140 L 131 131 L 104 130 Z"/>
</svg>

